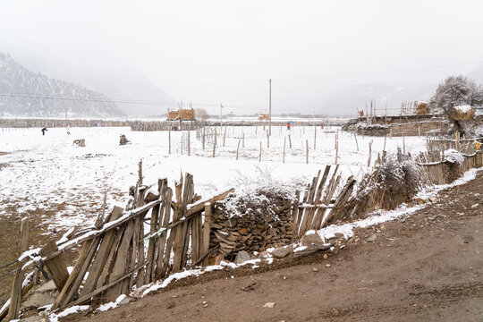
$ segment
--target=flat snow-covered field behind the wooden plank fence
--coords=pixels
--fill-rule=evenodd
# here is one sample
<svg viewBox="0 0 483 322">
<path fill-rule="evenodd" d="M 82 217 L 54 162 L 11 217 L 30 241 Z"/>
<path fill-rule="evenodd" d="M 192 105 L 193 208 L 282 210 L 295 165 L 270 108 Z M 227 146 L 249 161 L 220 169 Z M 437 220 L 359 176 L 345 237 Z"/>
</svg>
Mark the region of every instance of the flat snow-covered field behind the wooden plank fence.
<svg viewBox="0 0 483 322">
<path fill-rule="evenodd" d="M 211 129 L 213 130 L 213 129 Z M 267 131 L 267 128 L 265 129 Z M 195 191 L 208 196 L 225 187 L 242 189 L 243 185 L 274 180 L 279 184 L 309 182 L 325 165 L 335 164 L 335 137 L 338 135 L 338 164 L 343 177 L 369 171 L 369 142 L 372 162 L 382 151 L 384 138 L 358 136 L 339 128 L 272 127 L 267 148 L 267 134 L 262 127 L 228 127 L 217 129 L 216 157 L 213 158 L 213 136 L 206 137 L 206 147 L 191 131 L 191 156 L 187 156 L 188 134 L 171 131 L 172 153 L 168 154 L 167 131 L 131 131 L 129 128 L 64 128 L 0 131 L 0 216 L 10 216 L 14 208 L 19 216 L 31 212 L 45 213 L 49 229 L 91 225 L 101 208 L 104 191 L 109 207 L 124 207 L 129 186 L 137 181 L 138 162 L 143 161 L 144 183 L 168 178 L 170 186 L 181 172 L 194 176 Z M 207 131 L 212 132 L 212 131 Z M 220 133 L 221 132 L 221 133 Z M 242 137 L 244 133 L 244 147 Z M 292 148 L 289 148 L 288 134 Z M 338 133 L 338 134 L 337 134 Z M 119 145 L 125 134 L 131 142 Z M 224 146 L 225 136 L 225 146 Z M 85 139 L 79 148 L 72 140 Z M 283 164 L 284 140 L 286 144 Z M 309 164 L 306 164 L 306 140 L 309 142 Z M 236 149 L 240 141 L 239 160 Z M 260 142 L 261 162 L 258 162 Z M 386 150 L 403 148 L 415 153 L 425 149 L 423 138 L 387 138 Z M 47 215 L 48 214 L 48 215 Z"/>
</svg>

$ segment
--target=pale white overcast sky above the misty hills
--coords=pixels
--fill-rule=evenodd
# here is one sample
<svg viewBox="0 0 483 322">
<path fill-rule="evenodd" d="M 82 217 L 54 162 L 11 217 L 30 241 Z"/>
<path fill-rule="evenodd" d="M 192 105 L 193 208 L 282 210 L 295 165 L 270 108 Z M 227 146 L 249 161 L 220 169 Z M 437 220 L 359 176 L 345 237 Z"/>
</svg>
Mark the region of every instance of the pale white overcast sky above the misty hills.
<svg viewBox="0 0 483 322">
<path fill-rule="evenodd" d="M 267 109 L 271 78 L 275 111 L 323 113 L 352 84 L 423 84 L 482 64 L 481 13 L 481 0 L 0 0 L 0 51 L 130 66 L 176 100 L 250 113 Z"/>
</svg>

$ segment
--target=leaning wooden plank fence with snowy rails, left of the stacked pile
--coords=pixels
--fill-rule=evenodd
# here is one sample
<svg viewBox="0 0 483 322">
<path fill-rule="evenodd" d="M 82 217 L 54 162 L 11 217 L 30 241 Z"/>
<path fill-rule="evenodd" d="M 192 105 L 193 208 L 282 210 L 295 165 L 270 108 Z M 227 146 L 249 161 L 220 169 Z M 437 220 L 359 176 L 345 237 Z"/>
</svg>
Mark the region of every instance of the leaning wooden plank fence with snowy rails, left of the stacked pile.
<svg viewBox="0 0 483 322">
<path fill-rule="evenodd" d="M 9 319 L 18 318 L 21 296 L 33 286 L 31 274 L 20 283 L 22 275 L 28 269 L 39 267 L 39 263 L 47 267 L 59 291 L 53 310 L 89 301 L 115 301 L 120 294 L 130 293 L 133 287 L 164 278 L 183 267 L 200 265 L 210 252 L 211 207 L 231 192 L 233 189 L 200 199 L 194 193 L 191 174 L 175 182 L 174 191 L 165 179 L 157 182 L 157 189 L 148 189 L 142 186 L 140 168 L 140 181 L 128 209 L 115 207 L 106 218 L 99 214 L 95 228 L 88 233 L 60 245 L 48 242 L 38 254 L 31 256 L 30 262 L 19 261 L 12 297 L 0 312 L 0 319 L 9 313 Z M 149 224 L 148 233 L 144 231 L 144 223 Z M 27 249 L 23 240 L 22 251 Z M 147 252 L 145 241 L 148 241 Z M 78 245 L 81 245 L 80 254 L 69 274 L 63 253 Z M 38 273 L 37 268 L 34 272 Z"/>
</svg>

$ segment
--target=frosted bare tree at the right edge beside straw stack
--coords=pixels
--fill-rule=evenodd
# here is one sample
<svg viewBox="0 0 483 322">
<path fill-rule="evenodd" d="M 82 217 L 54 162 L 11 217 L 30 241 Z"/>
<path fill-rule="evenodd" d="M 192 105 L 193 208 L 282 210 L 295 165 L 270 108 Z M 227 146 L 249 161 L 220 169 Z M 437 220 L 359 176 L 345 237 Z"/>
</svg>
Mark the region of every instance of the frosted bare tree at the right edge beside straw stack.
<svg viewBox="0 0 483 322">
<path fill-rule="evenodd" d="M 481 106 L 483 104 L 483 87 L 466 76 L 450 76 L 436 89 L 429 105 L 440 108 L 453 123 L 454 131 L 465 132 L 465 122 L 457 117 L 457 106 Z"/>
</svg>

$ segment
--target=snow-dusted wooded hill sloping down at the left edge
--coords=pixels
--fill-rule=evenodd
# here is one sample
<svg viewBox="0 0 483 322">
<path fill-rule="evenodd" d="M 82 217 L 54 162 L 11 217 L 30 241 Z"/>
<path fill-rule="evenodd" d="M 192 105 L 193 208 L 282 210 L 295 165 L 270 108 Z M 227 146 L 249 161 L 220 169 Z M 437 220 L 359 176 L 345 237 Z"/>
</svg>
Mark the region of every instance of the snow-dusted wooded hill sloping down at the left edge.
<svg viewBox="0 0 483 322">
<path fill-rule="evenodd" d="M 69 97 L 72 100 L 55 97 Z M 30 72 L 10 55 L 0 54 L 0 114 L 106 117 L 123 115 L 123 111 L 104 94 L 49 78 L 39 72 Z"/>
</svg>

